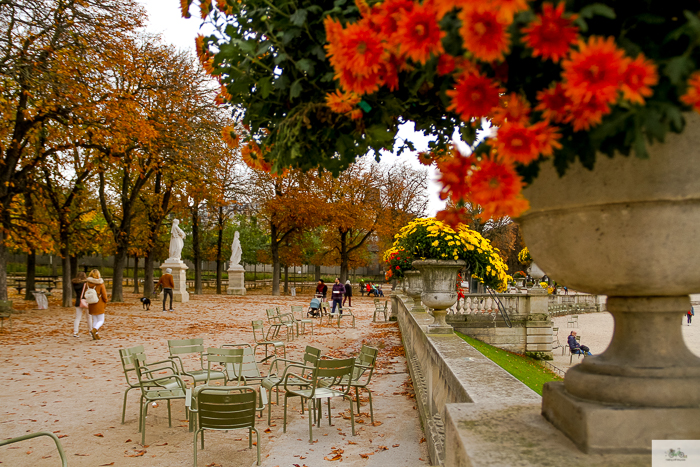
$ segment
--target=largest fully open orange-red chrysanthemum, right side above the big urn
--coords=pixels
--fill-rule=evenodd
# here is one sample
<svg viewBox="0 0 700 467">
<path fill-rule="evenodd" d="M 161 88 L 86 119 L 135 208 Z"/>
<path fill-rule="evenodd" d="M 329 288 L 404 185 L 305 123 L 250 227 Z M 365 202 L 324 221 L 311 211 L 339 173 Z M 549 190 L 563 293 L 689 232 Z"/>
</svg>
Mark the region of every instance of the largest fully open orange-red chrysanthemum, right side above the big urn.
<svg viewBox="0 0 700 467">
<path fill-rule="evenodd" d="M 614 38 L 591 36 L 588 42 L 579 41 L 579 51 L 562 62 L 566 94 L 577 103 L 594 97 L 613 103 L 624 66 L 624 52 L 617 48 Z"/>
</svg>

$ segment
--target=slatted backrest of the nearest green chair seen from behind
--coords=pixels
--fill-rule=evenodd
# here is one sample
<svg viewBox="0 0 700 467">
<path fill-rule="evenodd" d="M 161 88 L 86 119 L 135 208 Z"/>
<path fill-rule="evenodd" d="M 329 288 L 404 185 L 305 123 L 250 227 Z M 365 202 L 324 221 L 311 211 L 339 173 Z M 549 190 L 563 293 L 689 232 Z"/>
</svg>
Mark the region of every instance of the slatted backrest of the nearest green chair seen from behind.
<svg viewBox="0 0 700 467">
<path fill-rule="evenodd" d="M 196 394 L 200 428 L 233 430 L 255 427 L 255 389 L 248 386 L 203 387 Z"/>
</svg>

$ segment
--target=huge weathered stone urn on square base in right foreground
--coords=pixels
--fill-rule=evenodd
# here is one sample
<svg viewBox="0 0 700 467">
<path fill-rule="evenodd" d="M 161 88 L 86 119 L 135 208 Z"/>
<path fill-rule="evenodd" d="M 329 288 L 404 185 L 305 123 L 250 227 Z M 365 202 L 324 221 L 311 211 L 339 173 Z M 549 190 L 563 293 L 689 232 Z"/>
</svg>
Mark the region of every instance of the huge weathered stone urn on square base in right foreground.
<svg viewBox="0 0 700 467">
<path fill-rule="evenodd" d="M 685 118 L 648 159 L 599 154 L 592 171 L 577 161 L 563 177 L 543 164 L 525 190 L 518 223 L 532 255 L 558 282 L 607 295 L 615 319 L 604 352 L 544 387 L 543 415 L 586 452 L 700 439 L 700 358 L 681 333 L 700 287 L 700 116 Z"/>
</svg>

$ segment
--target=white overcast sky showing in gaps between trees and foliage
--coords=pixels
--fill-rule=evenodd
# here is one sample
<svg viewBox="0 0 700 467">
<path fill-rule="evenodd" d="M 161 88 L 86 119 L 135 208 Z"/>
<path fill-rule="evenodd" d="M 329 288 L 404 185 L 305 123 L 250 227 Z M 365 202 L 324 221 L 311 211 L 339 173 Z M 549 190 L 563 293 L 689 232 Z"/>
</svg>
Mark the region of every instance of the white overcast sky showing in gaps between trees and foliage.
<svg viewBox="0 0 700 467">
<path fill-rule="evenodd" d="M 179 49 L 190 50 L 194 53 L 194 38 L 200 33 L 199 11 L 192 8 L 192 18 L 184 19 L 180 16 L 180 2 L 177 0 L 141 0 L 148 12 L 148 27 L 150 32 L 161 34 L 163 41 L 175 45 Z M 399 137 L 409 139 L 416 145 L 418 151 L 427 149 L 428 140 L 422 135 L 412 131 L 413 126 L 404 126 L 399 131 Z M 401 157 L 386 153 L 382 161 L 392 163 L 394 161 L 406 161 L 414 167 L 423 167 L 418 163 L 415 154 L 404 153 Z M 438 193 L 439 185 L 435 182 L 435 169 L 430 168 L 430 182 L 428 184 L 429 205 L 426 214 L 434 216 L 442 209 L 444 202 L 440 201 Z"/>
</svg>

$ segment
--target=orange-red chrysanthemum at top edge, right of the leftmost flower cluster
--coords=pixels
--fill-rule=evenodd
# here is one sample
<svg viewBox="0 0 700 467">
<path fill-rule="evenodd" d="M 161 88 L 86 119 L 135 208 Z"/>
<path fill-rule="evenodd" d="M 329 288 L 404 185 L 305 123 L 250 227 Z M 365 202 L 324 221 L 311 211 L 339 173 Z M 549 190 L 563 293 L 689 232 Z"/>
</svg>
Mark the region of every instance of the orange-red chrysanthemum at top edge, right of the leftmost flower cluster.
<svg viewBox="0 0 700 467">
<path fill-rule="evenodd" d="M 435 11 L 428 5 L 416 5 L 397 24 L 396 40 L 408 58 L 424 64 L 431 54 L 443 52 L 442 38 Z"/>
</svg>

